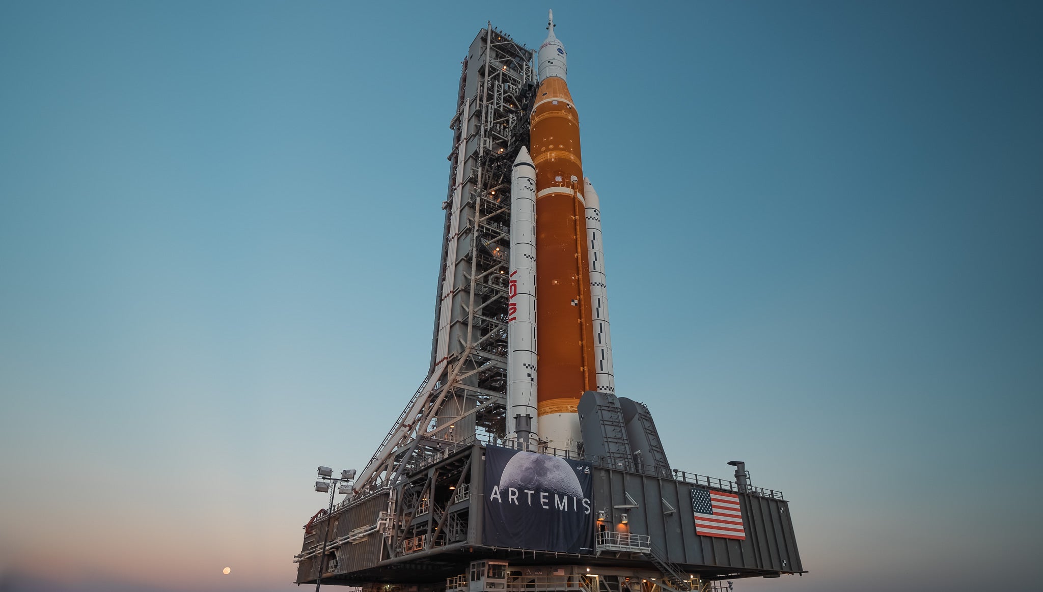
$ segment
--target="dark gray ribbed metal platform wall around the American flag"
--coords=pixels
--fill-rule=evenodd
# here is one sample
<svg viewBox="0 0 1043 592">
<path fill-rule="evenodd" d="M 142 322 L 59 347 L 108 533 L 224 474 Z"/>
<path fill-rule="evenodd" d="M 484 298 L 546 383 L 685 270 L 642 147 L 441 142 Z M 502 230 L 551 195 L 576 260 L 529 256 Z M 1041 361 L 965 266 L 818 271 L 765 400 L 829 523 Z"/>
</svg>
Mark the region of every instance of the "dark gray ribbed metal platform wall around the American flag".
<svg viewBox="0 0 1043 592">
<path fill-rule="evenodd" d="M 693 487 L 672 479 L 596 468 L 595 510 L 606 512 L 605 525 L 610 531 L 650 535 L 653 544 L 677 564 L 792 572 L 803 569 L 786 501 L 741 493 L 746 540 L 704 537 L 696 535 Z M 637 507 L 613 508 L 630 503 Z M 626 524 L 621 523 L 624 513 L 628 518 Z"/>
</svg>

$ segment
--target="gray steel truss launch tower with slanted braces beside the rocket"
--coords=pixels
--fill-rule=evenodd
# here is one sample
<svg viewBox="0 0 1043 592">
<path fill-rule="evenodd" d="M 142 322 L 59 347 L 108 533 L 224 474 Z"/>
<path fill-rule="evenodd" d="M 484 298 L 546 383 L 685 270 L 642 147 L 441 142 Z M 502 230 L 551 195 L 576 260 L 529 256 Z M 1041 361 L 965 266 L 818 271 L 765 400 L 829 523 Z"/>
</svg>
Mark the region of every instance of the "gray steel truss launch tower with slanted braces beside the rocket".
<svg viewBox="0 0 1043 592">
<path fill-rule="evenodd" d="M 490 24 L 463 61 L 431 367 L 359 474 L 360 493 L 393 486 L 456 443 L 504 435 L 511 164 L 529 143 L 532 58 Z"/>
</svg>

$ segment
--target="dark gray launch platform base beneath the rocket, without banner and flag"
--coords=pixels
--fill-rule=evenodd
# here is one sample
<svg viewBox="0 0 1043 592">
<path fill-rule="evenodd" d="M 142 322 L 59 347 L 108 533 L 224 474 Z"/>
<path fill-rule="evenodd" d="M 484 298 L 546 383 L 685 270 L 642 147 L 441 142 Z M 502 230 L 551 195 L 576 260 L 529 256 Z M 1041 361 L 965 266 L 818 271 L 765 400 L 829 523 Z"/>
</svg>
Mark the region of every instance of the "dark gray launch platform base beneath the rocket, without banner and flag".
<svg viewBox="0 0 1043 592">
<path fill-rule="evenodd" d="M 722 578 L 803 571 L 781 492 L 753 487 L 739 492 L 734 482 L 683 471 L 664 477 L 653 466 L 646 472 L 620 470 L 613 459 L 589 455 L 584 460 L 592 466 L 597 517 L 589 553 L 486 546 L 482 504 L 489 492 L 481 489 L 487 445 L 457 444 L 427 459 L 395 488 L 342 503 L 332 517 L 318 517 L 307 527 L 297 583 L 314 582 L 320 563 L 323 584 L 418 592 L 450 590 L 448 578 L 459 584 L 472 562 L 488 560 L 507 566 L 505 590 L 621 592 L 628 578 L 645 581 L 646 592 L 654 587 L 693 590 Z M 698 535 L 693 488 L 736 495 L 745 540 Z M 393 498 L 401 502 L 392 503 Z M 390 516 L 389 507 L 394 508 Z M 328 552 L 320 562 L 323 539 Z M 571 582 L 535 586 L 531 577 L 515 573 L 523 567 L 539 567 L 544 575 L 558 573 Z M 469 575 L 464 581 L 471 583 Z"/>
</svg>

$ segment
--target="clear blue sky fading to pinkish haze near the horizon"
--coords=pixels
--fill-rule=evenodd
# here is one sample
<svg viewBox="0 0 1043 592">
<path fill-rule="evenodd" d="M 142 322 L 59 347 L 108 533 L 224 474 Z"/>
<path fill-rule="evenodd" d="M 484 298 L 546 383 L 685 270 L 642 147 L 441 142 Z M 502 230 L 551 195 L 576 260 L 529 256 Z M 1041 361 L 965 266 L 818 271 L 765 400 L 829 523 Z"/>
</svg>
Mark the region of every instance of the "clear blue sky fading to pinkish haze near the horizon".
<svg viewBox="0 0 1043 592">
<path fill-rule="evenodd" d="M 460 60 L 547 7 L 0 2 L 0 589 L 296 589 L 428 368 Z M 792 500 L 736 590 L 1038 590 L 1041 4 L 551 7 L 618 392 Z"/>
</svg>

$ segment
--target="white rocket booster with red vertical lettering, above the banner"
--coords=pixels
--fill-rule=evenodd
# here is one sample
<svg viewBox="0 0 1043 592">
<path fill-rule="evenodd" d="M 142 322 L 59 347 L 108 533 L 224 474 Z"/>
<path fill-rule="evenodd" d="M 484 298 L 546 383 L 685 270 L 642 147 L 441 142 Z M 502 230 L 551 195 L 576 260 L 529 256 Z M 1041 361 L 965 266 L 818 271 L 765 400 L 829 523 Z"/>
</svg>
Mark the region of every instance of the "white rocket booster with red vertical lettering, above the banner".
<svg viewBox="0 0 1043 592">
<path fill-rule="evenodd" d="M 536 430 L 536 168 L 523 146 L 511 171 L 511 250 L 507 292 L 507 434 Z M 515 433 L 515 418 L 523 430 Z M 525 418 L 529 416 L 529 433 Z"/>
</svg>

